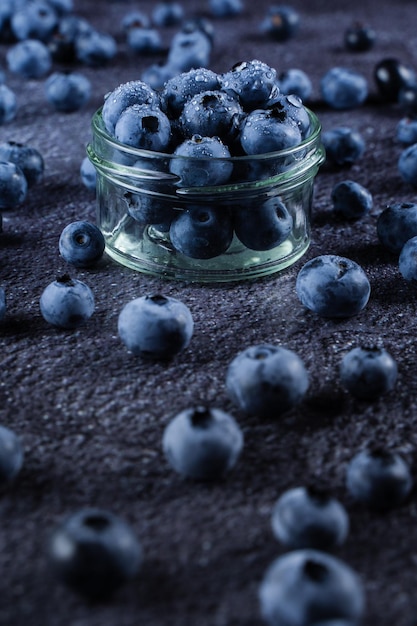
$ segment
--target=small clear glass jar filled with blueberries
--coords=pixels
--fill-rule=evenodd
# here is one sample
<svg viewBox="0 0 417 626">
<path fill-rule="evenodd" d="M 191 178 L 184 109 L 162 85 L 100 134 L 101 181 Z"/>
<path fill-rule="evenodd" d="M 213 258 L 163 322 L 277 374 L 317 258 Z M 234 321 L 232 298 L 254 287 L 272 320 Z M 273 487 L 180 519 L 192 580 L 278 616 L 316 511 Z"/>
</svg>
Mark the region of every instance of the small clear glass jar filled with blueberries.
<svg viewBox="0 0 417 626">
<path fill-rule="evenodd" d="M 290 266 L 310 243 L 313 183 L 324 160 L 320 122 L 308 114 L 309 135 L 296 147 L 206 161 L 121 144 L 98 110 L 87 154 L 107 254 L 140 272 L 196 282 Z M 176 173 L 198 167 L 204 178 L 213 166 L 227 171 L 226 182 L 191 187 Z"/>
</svg>

